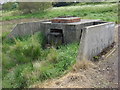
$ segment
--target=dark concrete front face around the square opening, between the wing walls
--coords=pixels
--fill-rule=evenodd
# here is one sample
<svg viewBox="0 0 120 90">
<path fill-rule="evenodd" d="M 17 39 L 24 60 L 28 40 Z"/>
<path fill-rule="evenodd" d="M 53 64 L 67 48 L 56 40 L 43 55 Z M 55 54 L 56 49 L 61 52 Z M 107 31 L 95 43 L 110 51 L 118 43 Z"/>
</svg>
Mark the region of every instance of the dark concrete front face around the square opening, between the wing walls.
<svg viewBox="0 0 120 90">
<path fill-rule="evenodd" d="M 80 25 L 80 24 L 79 24 Z M 47 34 L 50 33 L 51 29 L 61 29 L 63 31 L 63 39 L 64 43 L 72 43 L 72 42 L 79 42 L 79 35 L 81 28 L 76 30 L 77 25 L 67 25 L 67 24 L 61 24 L 61 23 L 42 23 L 41 27 L 43 29 L 43 32 L 45 33 L 45 36 L 47 37 Z M 78 35 L 78 36 L 76 36 Z"/>
</svg>

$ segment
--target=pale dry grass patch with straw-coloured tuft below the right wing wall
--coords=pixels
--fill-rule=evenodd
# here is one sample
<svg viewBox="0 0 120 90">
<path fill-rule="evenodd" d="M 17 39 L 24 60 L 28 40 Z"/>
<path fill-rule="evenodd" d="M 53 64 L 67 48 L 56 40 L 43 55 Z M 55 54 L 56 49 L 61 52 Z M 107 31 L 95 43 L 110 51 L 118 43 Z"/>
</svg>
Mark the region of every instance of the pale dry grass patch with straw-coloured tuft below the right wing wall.
<svg viewBox="0 0 120 90">
<path fill-rule="evenodd" d="M 46 80 L 31 86 L 32 88 L 94 88 L 107 87 L 109 82 L 90 60 L 77 61 L 73 66 L 75 72 L 63 77 Z"/>
</svg>

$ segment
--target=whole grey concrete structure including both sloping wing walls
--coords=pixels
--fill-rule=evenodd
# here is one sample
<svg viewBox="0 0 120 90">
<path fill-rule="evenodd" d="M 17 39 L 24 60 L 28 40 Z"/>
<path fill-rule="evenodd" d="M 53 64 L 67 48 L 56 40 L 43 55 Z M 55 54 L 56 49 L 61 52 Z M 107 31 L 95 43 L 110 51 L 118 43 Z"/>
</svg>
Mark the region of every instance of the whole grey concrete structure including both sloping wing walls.
<svg viewBox="0 0 120 90">
<path fill-rule="evenodd" d="M 74 24 L 52 24 L 47 20 L 17 24 L 8 38 L 31 35 L 38 31 L 47 37 L 51 29 L 62 29 L 65 43 L 80 40 L 77 60 L 82 60 L 91 59 L 114 42 L 114 27 L 112 22 L 101 23 L 99 20 Z"/>
</svg>

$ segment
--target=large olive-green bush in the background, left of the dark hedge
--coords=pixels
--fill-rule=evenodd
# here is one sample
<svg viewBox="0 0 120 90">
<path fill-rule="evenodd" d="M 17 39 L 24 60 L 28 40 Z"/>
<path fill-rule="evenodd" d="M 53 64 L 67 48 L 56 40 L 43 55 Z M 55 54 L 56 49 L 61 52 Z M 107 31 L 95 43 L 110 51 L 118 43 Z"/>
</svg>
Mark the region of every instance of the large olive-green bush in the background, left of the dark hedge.
<svg viewBox="0 0 120 90">
<path fill-rule="evenodd" d="M 20 2 L 19 9 L 23 11 L 24 14 L 33 12 L 42 12 L 52 6 L 50 2 Z"/>
</svg>

